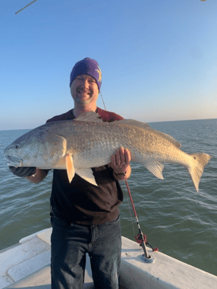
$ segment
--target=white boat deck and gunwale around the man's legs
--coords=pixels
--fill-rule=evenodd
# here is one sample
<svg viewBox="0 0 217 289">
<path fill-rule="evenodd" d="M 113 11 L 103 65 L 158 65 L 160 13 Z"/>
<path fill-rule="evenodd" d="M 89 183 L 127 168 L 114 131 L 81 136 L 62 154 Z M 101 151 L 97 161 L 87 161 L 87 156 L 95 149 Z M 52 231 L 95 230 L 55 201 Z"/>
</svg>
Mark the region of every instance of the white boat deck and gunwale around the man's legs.
<svg viewBox="0 0 217 289">
<path fill-rule="evenodd" d="M 0 289 L 51 289 L 51 230 L 22 238 L 18 245 L 0 251 Z M 121 289 L 217 288 L 216 276 L 149 248 L 148 253 L 154 262 L 143 262 L 140 246 L 122 237 Z M 84 288 L 94 288 L 88 258 Z"/>
</svg>

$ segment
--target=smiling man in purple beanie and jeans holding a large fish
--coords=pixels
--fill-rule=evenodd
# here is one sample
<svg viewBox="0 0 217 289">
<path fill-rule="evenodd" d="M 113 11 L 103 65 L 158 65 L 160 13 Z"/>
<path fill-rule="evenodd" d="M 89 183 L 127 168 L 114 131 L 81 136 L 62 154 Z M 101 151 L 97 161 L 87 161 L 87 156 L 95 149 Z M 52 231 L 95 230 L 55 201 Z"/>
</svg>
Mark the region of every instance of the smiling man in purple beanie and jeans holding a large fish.
<svg viewBox="0 0 217 289">
<path fill-rule="evenodd" d="M 101 86 L 96 60 L 85 58 L 74 65 L 70 90 L 74 109 L 47 121 L 74 119 L 84 112 L 97 112 L 103 121 L 123 119 L 96 106 Z M 131 154 L 117 149 L 111 163 L 92 168 L 98 187 L 79 175 L 71 183 L 66 170 L 53 170 L 51 192 L 51 284 L 52 289 L 83 288 L 86 253 L 96 289 L 117 289 L 121 257 L 121 224 L 118 206 L 123 200 L 119 180 L 131 174 Z M 48 170 L 10 168 L 31 182 L 44 180 Z"/>
</svg>

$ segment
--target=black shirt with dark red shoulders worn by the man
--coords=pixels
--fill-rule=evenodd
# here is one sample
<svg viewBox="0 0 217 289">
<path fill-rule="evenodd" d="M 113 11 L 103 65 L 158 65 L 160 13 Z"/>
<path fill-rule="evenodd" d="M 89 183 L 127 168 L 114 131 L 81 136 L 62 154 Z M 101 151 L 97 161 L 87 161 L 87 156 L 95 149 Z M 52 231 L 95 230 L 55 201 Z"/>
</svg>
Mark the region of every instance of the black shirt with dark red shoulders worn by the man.
<svg viewBox="0 0 217 289">
<path fill-rule="evenodd" d="M 123 119 L 118 114 L 97 108 L 103 121 Z M 46 123 L 74 119 L 72 109 L 60 116 L 48 119 Z M 51 206 L 54 215 L 76 224 L 103 224 L 116 219 L 118 206 L 123 201 L 119 182 L 114 179 L 112 168 L 100 166 L 92 168 L 98 187 L 75 174 L 70 183 L 66 170 L 53 170 Z"/>
</svg>

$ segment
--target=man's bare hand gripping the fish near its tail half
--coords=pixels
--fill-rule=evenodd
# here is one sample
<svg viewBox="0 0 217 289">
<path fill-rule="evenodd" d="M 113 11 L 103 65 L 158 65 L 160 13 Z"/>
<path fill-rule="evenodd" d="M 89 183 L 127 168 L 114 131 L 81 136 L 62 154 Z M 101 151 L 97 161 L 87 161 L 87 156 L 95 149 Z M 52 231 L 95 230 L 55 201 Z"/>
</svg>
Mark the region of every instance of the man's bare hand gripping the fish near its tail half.
<svg viewBox="0 0 217 289">
<path fill-rule="evenodd" d="M 126 180 L 131 175 L 130 161 L 131 152 L 129 149 L 124 149 L 124 147 L 120 147 L 115 154 L 112 155 L 111 167 L 114 170 L 114 177 L 117 180 Z"/>
</svg>

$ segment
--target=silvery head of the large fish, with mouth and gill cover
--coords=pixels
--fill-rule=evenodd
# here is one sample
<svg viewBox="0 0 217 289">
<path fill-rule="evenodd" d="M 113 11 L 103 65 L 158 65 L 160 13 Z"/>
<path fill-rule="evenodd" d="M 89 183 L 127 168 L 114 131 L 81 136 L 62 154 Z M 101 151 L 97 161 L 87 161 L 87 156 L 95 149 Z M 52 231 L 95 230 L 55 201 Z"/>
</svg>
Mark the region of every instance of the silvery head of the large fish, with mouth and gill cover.
<svg viewBox="0 0 217 289">
<path fill-rule="evenodd" d="M 35 128 L 4 149 L 8 166 L 53 168 L 65 155 L 65 139 L 46 125 Z"/>
</svg>

